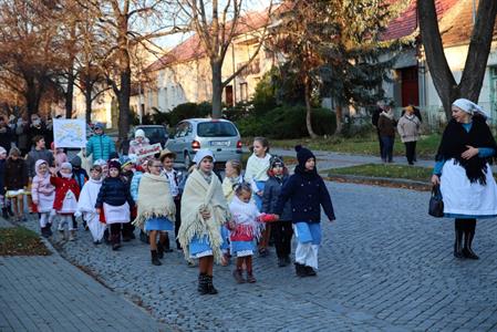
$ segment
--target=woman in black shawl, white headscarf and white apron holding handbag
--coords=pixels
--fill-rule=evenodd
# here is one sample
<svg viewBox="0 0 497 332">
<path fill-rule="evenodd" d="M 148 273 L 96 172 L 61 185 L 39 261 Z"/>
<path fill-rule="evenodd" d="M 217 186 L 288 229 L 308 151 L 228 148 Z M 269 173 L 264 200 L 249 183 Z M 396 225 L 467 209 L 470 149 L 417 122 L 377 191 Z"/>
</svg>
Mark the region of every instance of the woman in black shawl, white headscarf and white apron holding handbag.
<svg viewBox="0 0 497 332">
<path fill-rule="evenodd" d="M 485 111 L 475 103 L 456 100 L 452 117 L 438 146 L 432 183 L 441 186 L 444 217 L 455 219 L 454 257 L 478 259 L 473 251 L 476 220 L 497 216 L 497 185 L 489 166 L 497 144 Z"/>
</svg>

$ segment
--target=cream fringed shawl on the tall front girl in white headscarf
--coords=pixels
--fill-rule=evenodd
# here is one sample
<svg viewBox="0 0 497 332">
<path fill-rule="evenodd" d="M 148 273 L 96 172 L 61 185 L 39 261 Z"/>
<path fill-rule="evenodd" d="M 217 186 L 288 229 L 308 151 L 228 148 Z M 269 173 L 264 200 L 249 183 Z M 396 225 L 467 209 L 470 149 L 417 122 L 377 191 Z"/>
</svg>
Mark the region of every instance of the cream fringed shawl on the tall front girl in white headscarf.
<svg viewBox="0 0 497 332">
<path fill-rule="evenodd" d="M 200 214 L 203 210 L 210 212 L 209 219 L 204 220 Z M 207 236 L 214 258 L 219 262 L 222 257 L 220 227 L 229 218 L 228 204 L 218 177 L 213 174 L 213 179 L 208 184 L 200 172 L 194 169 L 186 180 L 182 196 L 182 226 L 179 227 L 178 240 L 184 249 L 185 257 L 189 259 L 188 245 L 195 236 L 198 238 Z"/>
</svg>

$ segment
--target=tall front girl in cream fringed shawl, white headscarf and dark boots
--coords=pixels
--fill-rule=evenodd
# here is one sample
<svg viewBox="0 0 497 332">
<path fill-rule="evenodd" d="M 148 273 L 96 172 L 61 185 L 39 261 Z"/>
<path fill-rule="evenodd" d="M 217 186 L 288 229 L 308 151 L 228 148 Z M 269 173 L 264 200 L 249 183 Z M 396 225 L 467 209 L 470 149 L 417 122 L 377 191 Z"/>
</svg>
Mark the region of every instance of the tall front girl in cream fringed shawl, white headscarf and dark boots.
<svg viewBox="0 0 497 332">
<path fill-rule="evenodd" d="M 229 220 L 230 214 L 221 183 L 213 172 L 213 152 L 199 149 L 194 162 L 197 166 L 188 176 L 182 197 L 178 239 L 187 259 L 198 258 L 198 292 L 216 294 L 214 260 L 221 260 L 221 225 Z"/>
</svg>

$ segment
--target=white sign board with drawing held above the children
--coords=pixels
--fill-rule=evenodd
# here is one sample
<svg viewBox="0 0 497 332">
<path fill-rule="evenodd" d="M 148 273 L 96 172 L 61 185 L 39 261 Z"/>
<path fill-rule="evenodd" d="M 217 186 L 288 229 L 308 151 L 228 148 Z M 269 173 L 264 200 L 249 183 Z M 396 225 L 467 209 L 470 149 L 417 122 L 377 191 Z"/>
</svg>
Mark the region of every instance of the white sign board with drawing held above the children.
<svg viewBox="0 0 497 332">
<path fill-rule="evenodd" d="M 84 120 L 58 118 L 53 121 L 55 147 L 85 147 L 86 123 Z"/>
</svg>

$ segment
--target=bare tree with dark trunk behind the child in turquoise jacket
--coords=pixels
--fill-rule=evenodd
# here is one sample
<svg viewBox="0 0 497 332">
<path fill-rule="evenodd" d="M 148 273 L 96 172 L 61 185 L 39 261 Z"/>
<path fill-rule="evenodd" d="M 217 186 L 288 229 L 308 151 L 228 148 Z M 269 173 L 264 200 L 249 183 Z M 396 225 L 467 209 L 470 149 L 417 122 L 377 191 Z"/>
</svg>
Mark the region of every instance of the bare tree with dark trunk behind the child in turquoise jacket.
<svg viewBox="0 0 497 332">
<path fill-rule="evenodd" d="M 133 50 L 155 38 L 180 31 L 166 0 L 79 0 L 92 11 L 105 32 L 102 68 L 118 103 L 118 139 L 127 138 L 132 87 Z"/>
</svg>

